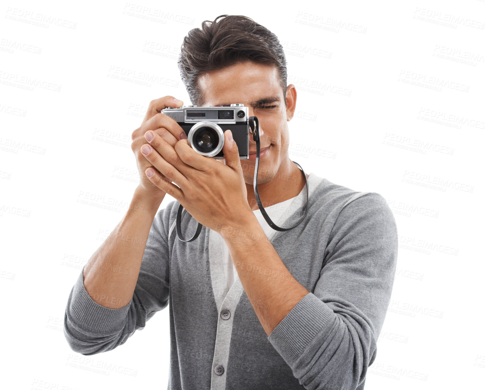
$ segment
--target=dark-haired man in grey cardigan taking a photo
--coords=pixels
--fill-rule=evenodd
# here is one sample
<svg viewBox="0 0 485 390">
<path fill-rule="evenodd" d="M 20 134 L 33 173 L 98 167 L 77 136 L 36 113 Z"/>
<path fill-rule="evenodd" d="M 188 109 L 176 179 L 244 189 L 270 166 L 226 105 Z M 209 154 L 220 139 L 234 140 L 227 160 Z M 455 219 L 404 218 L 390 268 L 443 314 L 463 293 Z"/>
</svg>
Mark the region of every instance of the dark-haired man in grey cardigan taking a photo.
<svg viewBox="0 0 485 390">
<path fill-rule="evenodd" d="M 206 22 L 179 59 L 193 104 L 248 106 L 260 124 L 265 210 L 291 227 L 308 189 L 307 216 L 273 230 L 255 200 L 252 137 L 252 156 L 240 160 L 226 130 L 223 164 L 161 113 L 181 101 L 152 101 L 132 134 L 142 183 L 69 295 L 66 339 L 83 355 L 112 350 L 170 303 L 169 389 L 362 390 L 396 269 L 392 212 L 378 193 L 313 173 L 305 188 L 288 155 L 296 90 L 279 41 L 245 16 Z M 176 200 L 157 212 L 165 193 Z M 177 237 L 179 204 L 190 214 L 184 239 L 204 225 L 194 241 Z"/>
</svg>

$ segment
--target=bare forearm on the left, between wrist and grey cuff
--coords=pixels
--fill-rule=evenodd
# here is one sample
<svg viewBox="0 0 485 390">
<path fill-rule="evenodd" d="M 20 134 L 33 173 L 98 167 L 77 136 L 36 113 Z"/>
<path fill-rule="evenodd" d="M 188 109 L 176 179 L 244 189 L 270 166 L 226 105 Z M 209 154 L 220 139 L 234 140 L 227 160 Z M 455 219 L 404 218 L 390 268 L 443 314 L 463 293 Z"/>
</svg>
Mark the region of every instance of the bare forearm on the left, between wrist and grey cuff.
<svg viewBox="0 0 485 390">
<path fill-rule="evenodd" d="M 161 202 L 137 187 L 123 219 L 84 266 L 84 287 L 101 306 L 119 309 L 130 302 Z"/>
</svg>

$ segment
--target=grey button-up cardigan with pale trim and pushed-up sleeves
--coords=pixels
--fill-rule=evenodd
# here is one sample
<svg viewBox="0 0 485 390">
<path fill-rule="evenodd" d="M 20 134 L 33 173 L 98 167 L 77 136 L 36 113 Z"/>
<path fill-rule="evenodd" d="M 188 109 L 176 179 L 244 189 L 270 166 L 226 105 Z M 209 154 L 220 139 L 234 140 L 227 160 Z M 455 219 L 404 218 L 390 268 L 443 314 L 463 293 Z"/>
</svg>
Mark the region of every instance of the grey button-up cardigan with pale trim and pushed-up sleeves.
<svg viewBox="0 0 485 390">
<path fill-rule="evenodd" d="M 292 226 L 303 215 L 305 191 L 280 226 Z M 204 226 L 196 240 L 178 240 L 179 203 L 172 201 L 153 221 L 128 305 L 108 309 L 96 303 L 81 271 L 64 316 L 69 346 L 83 355 L 110 351 L 168 305 L 170 390 L 363 390 L 392 292 L 396 222 L 376 192 L 357 192 L 324 178 L 309 180 L 309 191 L 305 220 L 270 237 L 310 293 L 269 336 L 239 278 L 228 292 L 212 281 L 221 275 L 214 263 L 220 235 Z M 184 214 L 181 227 L 194 232 L 197 222 Z"/>
</svg>

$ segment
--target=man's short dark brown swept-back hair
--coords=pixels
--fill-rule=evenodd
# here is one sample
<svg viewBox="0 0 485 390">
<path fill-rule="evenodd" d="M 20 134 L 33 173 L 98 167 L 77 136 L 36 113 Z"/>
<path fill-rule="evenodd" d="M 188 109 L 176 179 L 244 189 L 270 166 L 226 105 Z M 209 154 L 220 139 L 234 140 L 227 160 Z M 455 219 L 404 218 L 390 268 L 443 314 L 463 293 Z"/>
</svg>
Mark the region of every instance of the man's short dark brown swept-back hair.
<svg viewBox="0 0 485 390">
<path fill-rule="evenodd" d="M 217 21 L 220 17 L 224 18 Z M 283 47 L 273 32 L 247 16 L 221 15 L 213 22 L 204 20 L 202 30 L 192 29 L 185 36 L 177 63 L 192 104 L 200 106 L 204 103 L 203 91 L 197 83 L 201 74 L 248 61 L 276 66 L 288 107 Z"/>
</svg>

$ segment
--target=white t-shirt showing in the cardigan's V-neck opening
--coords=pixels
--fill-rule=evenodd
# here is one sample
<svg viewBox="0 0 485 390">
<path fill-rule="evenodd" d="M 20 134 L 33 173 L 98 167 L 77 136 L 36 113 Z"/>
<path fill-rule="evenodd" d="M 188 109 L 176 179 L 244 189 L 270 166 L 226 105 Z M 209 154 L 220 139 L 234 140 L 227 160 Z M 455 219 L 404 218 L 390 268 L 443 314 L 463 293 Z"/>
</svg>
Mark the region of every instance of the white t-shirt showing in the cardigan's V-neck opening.
<svg viewBox="0 0 485 390">
<path fill-rule="evenodd" d="M 303 187 L 303 189 L 306 190 L 305 187 Z M 280 226 L 278 221 L 285 215 L 291 203 L 297 197 L 298 195 L 286 201 L 273 204 L 272 206 L 269 206 L 269 207 L 265 207 L 264 211 L 266 211 L 266 214 L 268 214 L 268 216 L 271 218 L 273 222 L 275 222 L 276 225 Z M 257 210 L 253 210 L 253 213 L 256 216 L 256 218 L 258 218 L 259 225 L 263 229 L 266 236 L 268 236 L 271 232 L 275 230 L 270 225 L 268 225 L 268 222 L 266 222 L 266 219 L 264 219 L 263 215 L 261 214 L 261 210 L 259 210 L 259 208 Z M 238 275 L 237 275 L 238 272 L 236 270 L 236 266 L 232 262 L 231 255 L 229 253 L 229 248 L 227 248 L 226 241 L 224 240 L 222 240 L 222 253 L 224 257 L 224 271 L 226 272 L 227 291 L 229 291 L 232 284 L 234 283 L 234 280 L 238 278 Z"/>
</svg>

